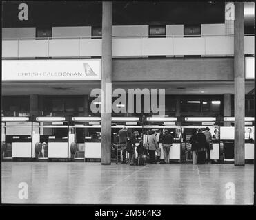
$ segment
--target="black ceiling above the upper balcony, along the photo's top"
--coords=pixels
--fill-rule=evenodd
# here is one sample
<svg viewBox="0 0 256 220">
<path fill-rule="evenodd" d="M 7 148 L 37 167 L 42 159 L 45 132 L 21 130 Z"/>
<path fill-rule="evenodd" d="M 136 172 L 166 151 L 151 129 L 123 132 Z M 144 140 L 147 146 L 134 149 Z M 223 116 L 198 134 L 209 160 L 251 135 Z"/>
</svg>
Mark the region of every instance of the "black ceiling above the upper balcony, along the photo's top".
<svg viewBox="0 0 256 220">
<path fill-rule="evenodd" d="M 2 25 L 12 27 L 48 27 L 101 25 L 101 1 L 23 1 L 29 8 L 28 21 L 17 17 L 19 1 L 3 1 Z M 254 8 L 246 2 L 245 8 Z M 113 3 L 113 25 L 166 25 L 224 23 L 224 2 L 118 1 Z M 245 16 L 246 25 L 254 25 L 254 14 Z"/>
</svg>

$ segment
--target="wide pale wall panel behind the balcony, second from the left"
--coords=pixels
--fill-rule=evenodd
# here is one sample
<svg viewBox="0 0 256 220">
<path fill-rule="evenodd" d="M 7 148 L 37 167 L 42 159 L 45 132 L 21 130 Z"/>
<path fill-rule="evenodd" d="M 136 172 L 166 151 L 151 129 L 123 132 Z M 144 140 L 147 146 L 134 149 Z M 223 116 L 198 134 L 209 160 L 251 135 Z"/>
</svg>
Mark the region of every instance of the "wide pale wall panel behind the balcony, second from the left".
<svg viewBox="0 0 256 220">
<path fill-rule="evenodd" d="M 52 27 L 52 37 L 82 37 L 91 36 L 92 28 L 83 27 Z"/>
</svg>

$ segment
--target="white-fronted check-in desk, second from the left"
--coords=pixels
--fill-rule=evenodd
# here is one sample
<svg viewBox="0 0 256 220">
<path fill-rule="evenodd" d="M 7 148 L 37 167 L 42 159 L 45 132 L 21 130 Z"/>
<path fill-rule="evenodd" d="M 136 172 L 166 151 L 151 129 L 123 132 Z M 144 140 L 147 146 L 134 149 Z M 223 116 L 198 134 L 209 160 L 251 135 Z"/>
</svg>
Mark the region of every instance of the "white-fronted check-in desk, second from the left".
<svg viewBox="0 0 256 220">
<path fill-rule="evenodd" d="M 68 138 L 49 138 L 48 158 L 68 158 Z"/>
</svg>

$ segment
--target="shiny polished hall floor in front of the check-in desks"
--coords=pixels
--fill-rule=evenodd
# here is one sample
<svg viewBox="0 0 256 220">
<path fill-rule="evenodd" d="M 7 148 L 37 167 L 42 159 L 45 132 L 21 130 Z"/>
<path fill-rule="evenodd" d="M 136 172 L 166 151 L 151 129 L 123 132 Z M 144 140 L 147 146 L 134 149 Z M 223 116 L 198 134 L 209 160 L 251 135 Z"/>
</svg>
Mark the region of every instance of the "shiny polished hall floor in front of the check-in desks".
<svg viewBox="0 0 256 220">
<path fill-rule="evenodd" d="M 253 204 L 252 164 L 2 162 L 1 171 L 2 203 Z"/>
</svg>

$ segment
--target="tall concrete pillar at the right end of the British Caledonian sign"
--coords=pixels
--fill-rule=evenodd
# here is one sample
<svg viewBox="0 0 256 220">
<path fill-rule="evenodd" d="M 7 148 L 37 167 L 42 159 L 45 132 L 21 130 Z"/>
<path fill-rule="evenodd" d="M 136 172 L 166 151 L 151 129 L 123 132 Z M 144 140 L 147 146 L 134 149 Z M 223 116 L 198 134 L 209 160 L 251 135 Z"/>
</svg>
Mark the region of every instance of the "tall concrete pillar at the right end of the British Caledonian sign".
<svg viewBox="0 0 256 220">
<path fill-rule="evenodd" d="M 101 164 L 111 164 L 112 2 L 102 2 Z"/>
</svg>

